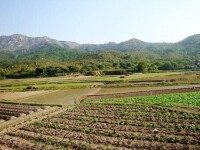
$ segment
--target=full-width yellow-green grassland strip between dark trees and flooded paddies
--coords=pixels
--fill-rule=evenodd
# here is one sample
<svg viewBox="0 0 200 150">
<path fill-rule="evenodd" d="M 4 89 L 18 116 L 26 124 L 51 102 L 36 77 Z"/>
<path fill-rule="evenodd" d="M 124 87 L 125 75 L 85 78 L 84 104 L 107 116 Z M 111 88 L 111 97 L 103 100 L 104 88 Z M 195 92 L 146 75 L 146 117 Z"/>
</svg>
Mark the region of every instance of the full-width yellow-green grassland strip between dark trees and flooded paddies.
<svg viewBox="0 0 200 150">
<path fill-rule="evenodd" d="M 95 76 L 95 77 L 48 77 L 48 78 L 29 78 L 29 79 L 4 79 L 0 81 L 0 90 L 24 91 L 29 85 L 36 85 L 39 90 L 49 89 L 67 89 L 67 88 L 83 88 L 94 85 L 103 85 L 110 82 L 106 86 L 132 86 L 130 81 L 142 80 L 173 80 L 173 82 L 160 82 L 158 85 L 182 85 L 182 84 L 199 84 L 199 72 L 162 72 L 162 73 L 136 73 L 125 78 L 121 76 Z M 112 85 L 113 84 L 113 85 Z M 149 83 L 145 86 L 154 86 Z"/>
</svg>

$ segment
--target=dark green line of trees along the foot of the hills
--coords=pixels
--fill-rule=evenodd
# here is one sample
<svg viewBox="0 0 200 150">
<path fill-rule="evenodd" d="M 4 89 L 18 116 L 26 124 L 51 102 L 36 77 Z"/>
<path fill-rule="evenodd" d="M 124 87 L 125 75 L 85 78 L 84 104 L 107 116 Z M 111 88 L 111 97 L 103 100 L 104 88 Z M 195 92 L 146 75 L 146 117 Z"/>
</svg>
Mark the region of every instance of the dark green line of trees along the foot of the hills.
<svg viewBox="0 0 200 150">
<path fill-rule="evenodd" d="M 197 66 L 196 67 L 200 67 Z M 51 66 L 34 66 L 34 65 L 17 65 L 10 68 L 0 68 L 0 78 L 29 78 L 29 77 L 53 77 L 65 76 L 69 74 L 82 75 L 122 75 L 127 73 L 148 73 L 159 72 L 163 70 L 180 70 L 193 69 L 194 66 L 186 62 L 157 61 L 148 62 L 140 61 L 131 63 L 114 62 L 114 63 L 94 63 L 73 64 L 73 65 L 51 65 Z"/>
</svg>

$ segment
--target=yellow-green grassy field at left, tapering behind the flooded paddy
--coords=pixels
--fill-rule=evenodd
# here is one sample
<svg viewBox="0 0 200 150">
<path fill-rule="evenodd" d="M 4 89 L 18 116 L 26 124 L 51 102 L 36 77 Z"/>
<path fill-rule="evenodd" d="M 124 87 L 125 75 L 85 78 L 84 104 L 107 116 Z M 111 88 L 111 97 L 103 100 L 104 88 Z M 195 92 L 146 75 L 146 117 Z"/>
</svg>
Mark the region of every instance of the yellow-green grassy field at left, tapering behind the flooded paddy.
<svg viewBox="0 0 200 150">
<path fill-rule="evenodd" d="M 37 86 L 38 90 L 58 90 L 68 88 L 86 88 L 94 85 L 101 85 L 98 82 L 80 81 L 69 78 L 33 78 L 33 79 L 8 79 L 2 80 L 0 83 L 0 90 L 9 91 L 26 91 L 29 85 Z"/>
</svg>

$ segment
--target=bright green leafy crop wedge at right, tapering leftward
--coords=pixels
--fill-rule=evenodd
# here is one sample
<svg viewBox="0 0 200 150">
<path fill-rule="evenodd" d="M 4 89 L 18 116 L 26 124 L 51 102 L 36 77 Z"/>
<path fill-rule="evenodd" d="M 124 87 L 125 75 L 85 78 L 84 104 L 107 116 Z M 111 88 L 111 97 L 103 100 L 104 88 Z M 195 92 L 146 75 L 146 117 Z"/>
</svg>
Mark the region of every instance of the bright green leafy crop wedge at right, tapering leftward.
<svg viewBox="0 0 200 150">
<path fill-rule="evenodd" d="M 85 103 L 88 102 L 91 101 L 85 101 Z M 141 103 L 142 102 L 148 104 L 156 104 L 165 107 L 187 107 L 187 108 L 197 108 L 200 110 L 200 92 L 92 100 L 92 103 L 95 102 L 96 103 L 98 102 Z"/>
</svg>

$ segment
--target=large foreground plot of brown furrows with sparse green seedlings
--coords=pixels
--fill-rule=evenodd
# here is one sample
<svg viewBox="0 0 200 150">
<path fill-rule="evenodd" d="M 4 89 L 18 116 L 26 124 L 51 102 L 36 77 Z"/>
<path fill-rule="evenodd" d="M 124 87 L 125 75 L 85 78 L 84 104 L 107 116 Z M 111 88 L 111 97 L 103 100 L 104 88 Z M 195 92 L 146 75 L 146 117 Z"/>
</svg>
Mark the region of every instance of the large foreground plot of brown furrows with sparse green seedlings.
<svg viewBox="0 0 200 150">
<path fill-rule="evenodd" d="M 84 101 L 0 136 L 13 149 L 200 149 L 200 115 L 152 103 Z"/>
</svg>

